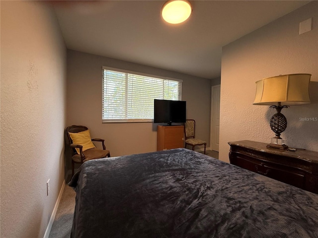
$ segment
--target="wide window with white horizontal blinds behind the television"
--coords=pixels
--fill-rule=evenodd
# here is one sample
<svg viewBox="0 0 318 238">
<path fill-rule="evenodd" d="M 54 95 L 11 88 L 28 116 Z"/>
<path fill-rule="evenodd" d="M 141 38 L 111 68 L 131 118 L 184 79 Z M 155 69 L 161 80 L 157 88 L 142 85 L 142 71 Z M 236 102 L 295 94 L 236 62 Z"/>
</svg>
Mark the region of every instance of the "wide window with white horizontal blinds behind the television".
<svg viewBox="0 0 318 238">
<path fill-rule="evenodd" d="M 103 67 L 103 122 L 152 121 L 154 99 L 181 100 L 181 80 Z"/>
</svg>

